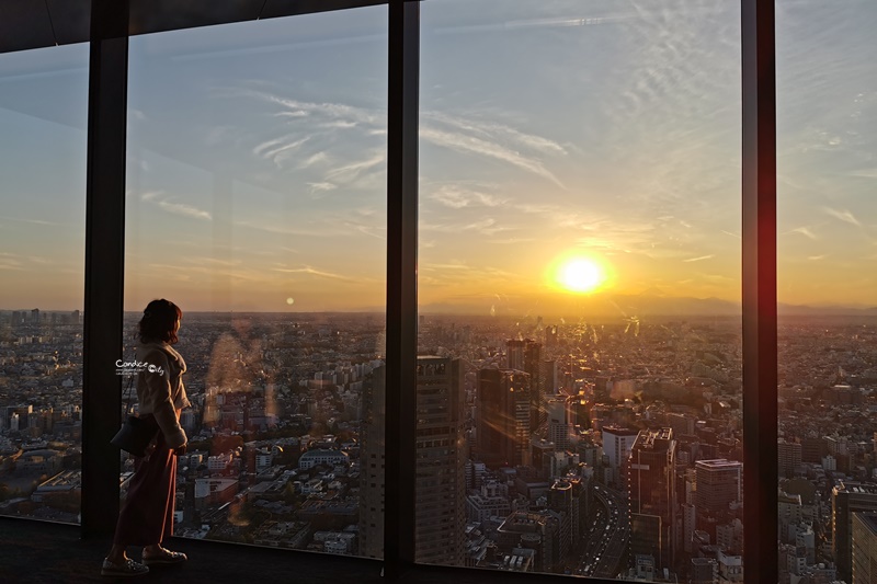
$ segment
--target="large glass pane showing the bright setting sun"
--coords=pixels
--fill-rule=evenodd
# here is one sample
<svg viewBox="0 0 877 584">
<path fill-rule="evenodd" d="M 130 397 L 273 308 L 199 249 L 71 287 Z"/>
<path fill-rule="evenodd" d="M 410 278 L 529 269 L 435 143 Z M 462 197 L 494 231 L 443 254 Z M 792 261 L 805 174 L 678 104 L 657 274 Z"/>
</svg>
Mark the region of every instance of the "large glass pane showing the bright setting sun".
<svg viewBox="0 0 877 584">
<path fill-rule="evenodd" d="M 423 4 L 419 561 L 742 575 L 739 22 Z"/>
</svg>

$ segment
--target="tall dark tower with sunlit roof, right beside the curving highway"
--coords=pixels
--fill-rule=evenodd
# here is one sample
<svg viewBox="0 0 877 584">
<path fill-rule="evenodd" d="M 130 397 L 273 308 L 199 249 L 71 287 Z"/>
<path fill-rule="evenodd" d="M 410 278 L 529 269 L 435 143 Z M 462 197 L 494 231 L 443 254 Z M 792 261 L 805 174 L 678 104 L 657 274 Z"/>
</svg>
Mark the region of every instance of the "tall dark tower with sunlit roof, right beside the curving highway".
<svg viewBox="0 0 877 584">
<path fill-rule="evenodd" d="M 651 556 L 658 568 L 672 568 L 675 550 L 676 440 L 673 430 L 642 430 L 628 459 L 630 553 Z"/>
</svg>

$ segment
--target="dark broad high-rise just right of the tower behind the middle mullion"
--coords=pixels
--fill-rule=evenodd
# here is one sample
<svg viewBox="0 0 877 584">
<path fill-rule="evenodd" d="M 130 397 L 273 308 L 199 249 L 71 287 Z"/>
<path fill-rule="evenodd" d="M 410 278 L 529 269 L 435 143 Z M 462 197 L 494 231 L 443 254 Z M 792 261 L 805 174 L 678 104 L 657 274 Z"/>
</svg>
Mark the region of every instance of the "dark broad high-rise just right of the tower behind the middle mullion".
<svg viewBox="0 0 877 584">
<path fill-rule="evenodd" d="M 476 457 L 488 467 L 528 463 L 529 375 L 515 369 L 478 371 Z"/>
</svg>

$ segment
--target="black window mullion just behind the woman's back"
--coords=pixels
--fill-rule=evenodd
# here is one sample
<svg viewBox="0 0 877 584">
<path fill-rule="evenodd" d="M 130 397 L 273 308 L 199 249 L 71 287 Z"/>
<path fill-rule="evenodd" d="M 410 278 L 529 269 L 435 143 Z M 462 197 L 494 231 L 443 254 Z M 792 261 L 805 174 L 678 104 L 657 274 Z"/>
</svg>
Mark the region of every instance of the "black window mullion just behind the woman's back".
<svg viewBox="0 0 877 584">
<path fill-rule="evenodd" d="M 127 2 L 92 2 L 86 175 L 82 536 L 106 536 L 118 512 L 125 248 Z"/>
</svg>

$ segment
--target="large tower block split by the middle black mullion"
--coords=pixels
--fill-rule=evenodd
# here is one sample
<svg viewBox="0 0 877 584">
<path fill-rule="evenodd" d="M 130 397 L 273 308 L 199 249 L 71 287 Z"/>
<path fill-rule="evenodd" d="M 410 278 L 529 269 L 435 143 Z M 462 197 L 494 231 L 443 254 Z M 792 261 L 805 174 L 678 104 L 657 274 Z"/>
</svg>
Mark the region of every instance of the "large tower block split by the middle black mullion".
<svg viewBox="0 0 877 584">
<path fill-rule="evenodd" d="M 414 558 L 463 565 L 466 534 L 465 391 L 459 359 L 418 357 Z M 360 553 L 381 558 L 384 546 L 384 367 L 363 392 Z"/>
</svg>

